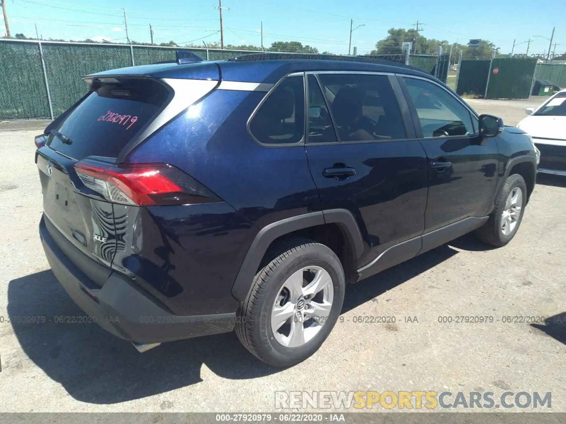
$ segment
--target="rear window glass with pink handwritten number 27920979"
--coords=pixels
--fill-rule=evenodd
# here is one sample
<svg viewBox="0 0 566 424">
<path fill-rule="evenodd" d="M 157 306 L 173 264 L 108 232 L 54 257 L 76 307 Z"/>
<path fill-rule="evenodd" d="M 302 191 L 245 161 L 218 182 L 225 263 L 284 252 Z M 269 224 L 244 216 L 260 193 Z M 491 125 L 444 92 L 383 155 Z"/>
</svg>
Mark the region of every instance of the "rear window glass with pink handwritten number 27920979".
<svg viewBox="0 0 566 424">
<path fill-rule="evenodd" d="M 104 83 L 54 128 L 71 144 L 50 135 L 47 145 L 75 159 L 92 155 L 117 157 L 128 141 L 155 118 L 168 96 L 164 85 L 150 79 Z"/>
</svg>

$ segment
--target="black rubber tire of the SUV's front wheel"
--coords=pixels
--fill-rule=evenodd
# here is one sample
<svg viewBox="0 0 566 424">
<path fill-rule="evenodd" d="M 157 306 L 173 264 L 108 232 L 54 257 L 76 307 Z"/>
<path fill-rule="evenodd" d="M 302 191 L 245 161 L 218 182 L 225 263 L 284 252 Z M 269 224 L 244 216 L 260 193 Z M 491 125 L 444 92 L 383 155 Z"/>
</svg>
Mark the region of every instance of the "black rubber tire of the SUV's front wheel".
<svg viewBox="0 0 566 424">
<path fill-rule="evenodd" d="M 505 233 L 503 228 L 504 224 L 504 214 L 509 210 L 509 205 L 507 202 L 511 198 L 513 191 L 518 188 L 521 191 L 521 205 L 520 211 L 516 213 L 518 215 L 517 219 L 514 221 L 516 224 L 510 227 L 508 233 Z M 527 201 L 527 187 L 525 180 L 519 174 L 509 175 L 505 184 L 498 194 L 495 200 L 495 208 L 490 214 L 489 219 L 482 227 L 475 231 L 478 239 L 482 240 L 484 243 L 491 244 L 492 246 L 501 247 L 509 243 L 517 233 L 517 230 L 521 224 L 523 214 L 525 213 L 525 205 Z M 518 205 L 518 204 L 517 204 Z M 509 224 L 509 222 L 508 222 Z"/>
</svg>

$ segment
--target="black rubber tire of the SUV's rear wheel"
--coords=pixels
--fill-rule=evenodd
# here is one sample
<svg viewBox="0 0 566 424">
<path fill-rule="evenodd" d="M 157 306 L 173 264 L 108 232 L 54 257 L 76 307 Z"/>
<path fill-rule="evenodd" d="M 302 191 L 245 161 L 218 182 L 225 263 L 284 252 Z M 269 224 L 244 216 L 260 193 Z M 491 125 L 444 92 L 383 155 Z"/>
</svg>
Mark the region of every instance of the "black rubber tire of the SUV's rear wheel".
<svg viewBox="0 0 566 424">
<path fill-rule="evenodd" d="M 301 271 L 302 269 L 307 270 Z M 324 274 L 324 272 L 327 272 L 327 274 Z M 327 284 L 315 296 L 307 295 L 303 298 L 303 309 L 298 309 L 301 308 L 301 302 L 293 296 L 293 293 L 301 293 L 305 288 L 308 291 L 310 282 L 307 277 L 310 278 L 311 275 L 320 276 L 320 279 L 317 280 L 319 282 L 325 277 L 324 280 Z M 291 276 L 294 276 L 294 278 L 290 278 Z M 327 276 L 331 281 L 328 280 Z M 287 285 L 290 284 L 291 280 L 298 282 L 299 279 L 300 283 L 298 284 L 302 288 L 291 292 Z M 289 240 L 276 246 L 266 255 L 262 266 L 255 275 L 250 293 L 239 305 L 235 325 L 238 339 L 248 351 L 269 365 L 284 367 L 306 360 L 320 348 L 320 345 L 323 344 L 336 324 L 344 302 L 345 285 L 344 270 L 340 260 L 328 246 L 308 239 Z M 296 289 L 299 286 L 293 285 L 293 287 Z M 313 287 L 315 286 L 313 285 Z M 316 289 L 312 288 L 312 290 Z M 289 296 L 285 302 L 287 293 Z M 308 299 L 309 296 L 310 300 Z M 329 303 L 325 300 L 327 298 L 331 298 Z M 275 304 L 276 299 L 277 305 Z M 314 322 L 315 318 L 308 319 L 308 314 L 312 314 L 317 309 L 316 305 L 323 304 L 327 305 L 325 306 L 327 310 L 329 309 L 328 316 L 324 319 L 317 318 L 316 322 Z M 328 306 L 328 304 L 331 304 L 331 306 Z M 274 333 L 272 314 L 275 308 L 282 310 L 283 307 L 286 310 L 292 308 L 293 316 L 289 317 L 280 330 Z M 307 309 L 311 309 L 310 312 Z M 298 318 L 297 313 L 303 314 L 305 318 Z M 281 319 L 278 321 L 281 321 Z M 305 321 L 299 322 L 299 319 Z M 285 335 L 287 326 L 289 328 L 288 336 Z M 307 340 L 305 344 L 294 346 L 295 339 L 291 337 L 291 331 L 293 331 L 293 334 L 295 332 L 291 326 L 295 326 L 292 328 L 297 329 L 297 334 L 304 335 L 304 340 L 307 340 L 307 333 L 309 336 L 312 334 L 314 336 Z M 300 329 L 301 327 L 303 330 Z M 288 339 L 289 345 L 280 342 L 285 338 Z"/>
</svg>

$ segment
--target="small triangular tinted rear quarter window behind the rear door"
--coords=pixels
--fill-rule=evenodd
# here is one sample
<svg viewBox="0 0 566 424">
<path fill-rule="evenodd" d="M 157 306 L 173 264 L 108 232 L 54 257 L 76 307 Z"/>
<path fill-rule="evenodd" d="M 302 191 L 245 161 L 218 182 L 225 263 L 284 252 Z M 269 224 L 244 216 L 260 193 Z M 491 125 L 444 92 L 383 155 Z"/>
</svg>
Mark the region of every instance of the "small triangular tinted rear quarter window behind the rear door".
<svg viewBox="0 0 566 424">
<path fill-rule="evenodd" d="M 261 144 L 300 143 L 305 135 L 305 85 L 302 76 L 286 77 L 268 94 L 250 121 Z"/>
</svg>

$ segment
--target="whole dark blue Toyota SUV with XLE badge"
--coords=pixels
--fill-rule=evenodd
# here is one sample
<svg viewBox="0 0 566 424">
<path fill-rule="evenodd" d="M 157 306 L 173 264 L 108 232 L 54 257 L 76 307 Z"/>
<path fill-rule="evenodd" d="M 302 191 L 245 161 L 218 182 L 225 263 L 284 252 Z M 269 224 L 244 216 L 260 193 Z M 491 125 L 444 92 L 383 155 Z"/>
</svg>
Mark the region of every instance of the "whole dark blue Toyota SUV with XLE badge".
<svg viewBox="0 0 566 424">
<path fill-rule="evenodd" d="M 36 137 L 41 241 L 76 304 L 140 351 L 235 329 L 296 364 L 346 283 L 473 230 L 507 244 L 535 185 L 524 131 L 393 62 L 248 55 L 84 81 Z"/>
</svg>

